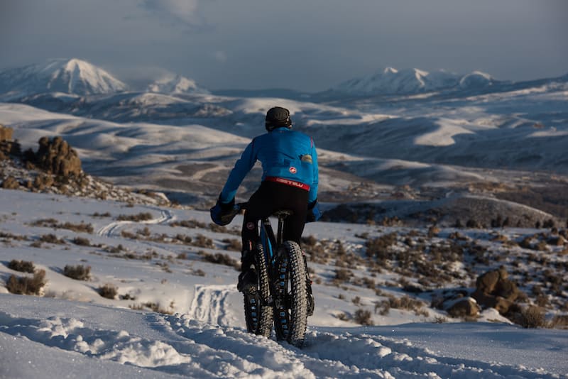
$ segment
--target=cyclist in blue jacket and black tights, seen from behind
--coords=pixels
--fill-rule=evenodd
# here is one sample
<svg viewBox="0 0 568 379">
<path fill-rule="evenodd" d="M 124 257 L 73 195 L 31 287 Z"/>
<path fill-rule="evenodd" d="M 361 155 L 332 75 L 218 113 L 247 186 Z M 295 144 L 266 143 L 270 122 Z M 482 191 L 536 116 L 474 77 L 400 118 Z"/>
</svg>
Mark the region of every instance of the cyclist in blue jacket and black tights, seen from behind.
<svg viewBox="0 0 568 379">
<path fill-rule="evenodd" d="M 231 170 L 217 204 L 211 209 L 215 224 L 228 224 L 230 221 L 224 222 L 221 217 L 231 213 L 239 185 L 256 160 L 261 161 L 262 182 L 249 199 L 241 231 L 243 250 L 237 285 L 241 292 L 256 289 L 253 250 L 258 241 L 260 219 L 279 209 L 292 210 L 293 214 L 285 223 L 283 241 L 300 244 L 305 223 L 320 218 L 317 207 L 317 153 L 312 138 L 293 131 L 290 111 L 280 106 L 268 110 L 265 126 L 268 133 L 253 138 L 246 146 Z"/>
</svg>

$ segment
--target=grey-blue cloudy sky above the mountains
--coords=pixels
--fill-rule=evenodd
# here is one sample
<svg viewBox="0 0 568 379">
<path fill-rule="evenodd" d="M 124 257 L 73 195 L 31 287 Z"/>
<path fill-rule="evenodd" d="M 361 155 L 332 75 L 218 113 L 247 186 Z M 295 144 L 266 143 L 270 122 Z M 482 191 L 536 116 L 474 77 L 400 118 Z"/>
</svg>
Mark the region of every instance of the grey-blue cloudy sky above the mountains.
<svg viewBox="0 0 568 379">
<path fill-rule="evenodd" d="M 384 67 L 568 73 L 565 0 L 0 0 L 0 69 L 76 57 L 126 82 L 317 92 Z"/>
</svg>

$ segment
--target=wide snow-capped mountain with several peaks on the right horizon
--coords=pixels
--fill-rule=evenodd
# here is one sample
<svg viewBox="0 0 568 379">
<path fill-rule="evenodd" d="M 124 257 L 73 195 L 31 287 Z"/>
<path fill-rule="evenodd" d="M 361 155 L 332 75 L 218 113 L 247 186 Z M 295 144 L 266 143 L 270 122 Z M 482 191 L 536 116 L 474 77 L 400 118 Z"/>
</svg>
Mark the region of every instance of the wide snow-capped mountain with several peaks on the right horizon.
<svg viewBox="0 0 568 379">
<path fill-rule="evenodd" d="M 396 70 L 393 67 L 366 77 L 350 79 L 330 89 L 331 92 L 350 95 L 371 94 L 413 94 L 459 89 L 487 87 L 494 82 L 491 75 L 484 72 L 471 72 L 458 75 L 454 72 L 437 70 L 427 72 L 418 69 Z"/>
</svg>

